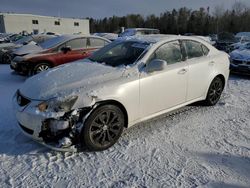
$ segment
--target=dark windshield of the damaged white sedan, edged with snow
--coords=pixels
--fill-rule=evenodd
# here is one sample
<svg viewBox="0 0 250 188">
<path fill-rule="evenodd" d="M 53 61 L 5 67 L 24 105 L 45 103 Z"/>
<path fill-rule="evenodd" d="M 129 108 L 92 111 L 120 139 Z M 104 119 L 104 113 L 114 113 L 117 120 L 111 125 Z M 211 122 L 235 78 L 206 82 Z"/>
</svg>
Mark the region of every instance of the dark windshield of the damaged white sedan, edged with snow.
<svg viewBox="0 0 250 188">
<path fill-rule="evenodd" d="M 117 67 L 133 64 L 147 49 L 149 43 L 138 41 L 113 42 L 95 52 L 89 60 Z"/>
</svg>

